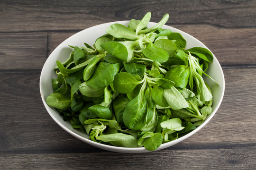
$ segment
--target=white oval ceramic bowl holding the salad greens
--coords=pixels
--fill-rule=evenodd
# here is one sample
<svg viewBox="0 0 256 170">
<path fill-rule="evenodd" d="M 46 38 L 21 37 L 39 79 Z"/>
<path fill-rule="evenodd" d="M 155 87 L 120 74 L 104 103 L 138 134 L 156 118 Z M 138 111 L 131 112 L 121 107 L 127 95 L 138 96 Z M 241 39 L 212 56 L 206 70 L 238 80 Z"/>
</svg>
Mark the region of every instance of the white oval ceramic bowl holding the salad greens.
<svg viewBox="0 0 256 170">
<path fill-rule="evenodd" d="M 43 100 L 43 103 L 46 107 L 46 110 L 50 114 L 50 116 L 55 120 L 55 122 L 62 127 L 65 131 L 70 133 L 71 135 L 77 137 L 78 139 L 84 141 L 87 144 L 91 144 L 95 147 L 113 151 L 113 152 L 119 152 L 119 153 L 146 153 L 147 151 L 144 147 L 138 147 L 138 148 L 125 148 L 125 147 L 117 147 L 117 146 L 110 146 L 106 144 L 99 144 L 96 142 L 93 142 L 89 139 L 89 136 L 72 128 L 70 122 L 66 122 L 63 120 L 62 116 L 54 109 L 49 107 L 46 104 L 46 97 L 53 93 L 52 85 L 51 85 L 51 79 L 56 78 L 56 74 L 53 71 L 53 69 L 56 66 L 56 60 L 59 60 L 61 62 L 65 61 L 68 57 L 70 52 L 72 51 L 72 48 L 70 48 L 68 45 L 73 46 L 83 46 L 83 42 L 86 42 L 90 45 L 94 44 L 95 40 L 100 37 L 103 34 L 106 34 L 106 29 L 108 26 L 114 23 L 119 23 L 122 25 L 128 24 L 129 21 L 117 21 L 117 22 L 110 22 L 101 24 L 98 26 L 92 26 L 90 28 L 87 28 L 85 30 L 82 30 L 68 39 L 66 39 L 64 42 L 62 42 L 60 45 L 56 47 L 56 49 L 51 53 L 51 55 L 46 60 L 46 63 L 44 64 L 44 67 L 41 72 L 40 76 L 40 93 Z M 154 26 L 156 23 L 150 22 L 148 24 L 148 27 Z M 163 26 L 163 29 L 170 29 L 172 32 L 180 33 L 183 35 L 185 40 L 187 41 L 186 49 L 192 48 L 192 47 L 204 47 L 207 48 L 202 42 L 194 38 L 193 36 L 184 33 L 181 30 L 178 30 L 171 26 Z M 207 48 L 208 49 L 208 48 Z M 222 101 L 223 95 L 224 95 L 224 89 L 225 89 L 225 80 L 224 75 L 222 72 L 222 69 L 219 65 L 218 60 L 213 55 L 213 62 L 209 64 L 209 68 L 207 70 L 207 74 L 211 76 L 214 80 L 216 80 L 219 83 L 219 86 L 217 86 L 213 81 L 211 81 L 208 77 L 204 77 L 205 81 L 210 85 L 212 94 L 213 94 L 213 105 L 212 109 L 213 112 L 205 119 L 205 121 L 196 129 L 194 129 L 189 134 L 182 136 L 174 141 L 161 144 L 161 146 L 157 150 L 161 150 L 167 147 L 170 147 L 174 144 L 177 144 L 184 139 L 188 138 L 189 136 L 192 136 L 197 131 L 199 131 L 202 127 L 204 127 L 209 120 L 213 117 L 213 115 L 216 113 L 216 111 L 219 108 L 219 105 Z"/>
</svg>

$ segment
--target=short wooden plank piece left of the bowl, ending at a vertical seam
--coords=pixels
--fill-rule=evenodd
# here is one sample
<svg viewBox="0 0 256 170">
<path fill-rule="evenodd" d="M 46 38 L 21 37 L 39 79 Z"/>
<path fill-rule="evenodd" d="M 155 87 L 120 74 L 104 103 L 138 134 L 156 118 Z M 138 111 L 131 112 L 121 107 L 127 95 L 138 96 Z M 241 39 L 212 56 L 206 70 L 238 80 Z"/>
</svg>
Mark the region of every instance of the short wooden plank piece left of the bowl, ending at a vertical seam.
<svg viewBox="0 0 256 170">
<path fill-rule="evenodd" d="M 46 61 L 46 33 L 0 34 L 0 69 L 42 69 Z"/>
</svg>

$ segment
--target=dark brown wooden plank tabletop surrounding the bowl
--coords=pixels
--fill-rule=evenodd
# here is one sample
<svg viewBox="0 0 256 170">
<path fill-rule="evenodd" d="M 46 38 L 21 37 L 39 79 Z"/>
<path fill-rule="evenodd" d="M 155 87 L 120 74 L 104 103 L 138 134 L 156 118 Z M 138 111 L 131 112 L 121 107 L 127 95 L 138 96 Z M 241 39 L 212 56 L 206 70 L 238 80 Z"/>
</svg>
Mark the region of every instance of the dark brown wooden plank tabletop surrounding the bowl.
<svg viewBox="0 0 256 170">
<path fill-rule="evenodd" d="M 124 154 L 69 135 L 47 113 L 39 76 L 55 47 L 98 24 L 170 14 L 223 68 L 223 102 L 192 137 Z M 86 42 L 86 40 L 85 40 Z M 0 169 L 256 169 L 256 0 L 0 0 Z"/>
</svg>

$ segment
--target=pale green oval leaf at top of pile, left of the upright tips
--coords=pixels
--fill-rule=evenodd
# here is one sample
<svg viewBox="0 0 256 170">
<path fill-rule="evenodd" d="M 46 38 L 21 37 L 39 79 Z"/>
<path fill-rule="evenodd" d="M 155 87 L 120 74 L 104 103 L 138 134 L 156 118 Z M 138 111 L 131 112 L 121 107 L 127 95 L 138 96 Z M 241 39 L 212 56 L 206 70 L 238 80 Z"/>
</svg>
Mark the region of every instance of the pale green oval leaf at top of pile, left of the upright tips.
<svg viewBox="0 0 256 170">
<path fill-rule="evenodd" d="M 107 28 L 106 32 L 115 38 L 126 38 L 128 40 L 137 40 L 140 38 L 132 29 L 121 24 L 112 24 Z"/>
</svg>

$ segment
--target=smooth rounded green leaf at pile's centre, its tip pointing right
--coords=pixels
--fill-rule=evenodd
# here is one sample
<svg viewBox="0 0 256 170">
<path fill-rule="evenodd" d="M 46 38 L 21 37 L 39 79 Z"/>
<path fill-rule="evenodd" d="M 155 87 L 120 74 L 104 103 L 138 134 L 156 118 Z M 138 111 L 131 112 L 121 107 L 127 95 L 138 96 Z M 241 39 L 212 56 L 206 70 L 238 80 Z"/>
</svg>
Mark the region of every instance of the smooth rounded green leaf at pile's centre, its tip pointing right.
<svg viewBox="0 0 256 170">
<path fill-rule="evenodd" d="M 119 93 L 131 92 L 136 85 L 140 84 L 132 75 L 127 72 L 118 73 L 113 81 L 113 86 Z"/>
</svg>

